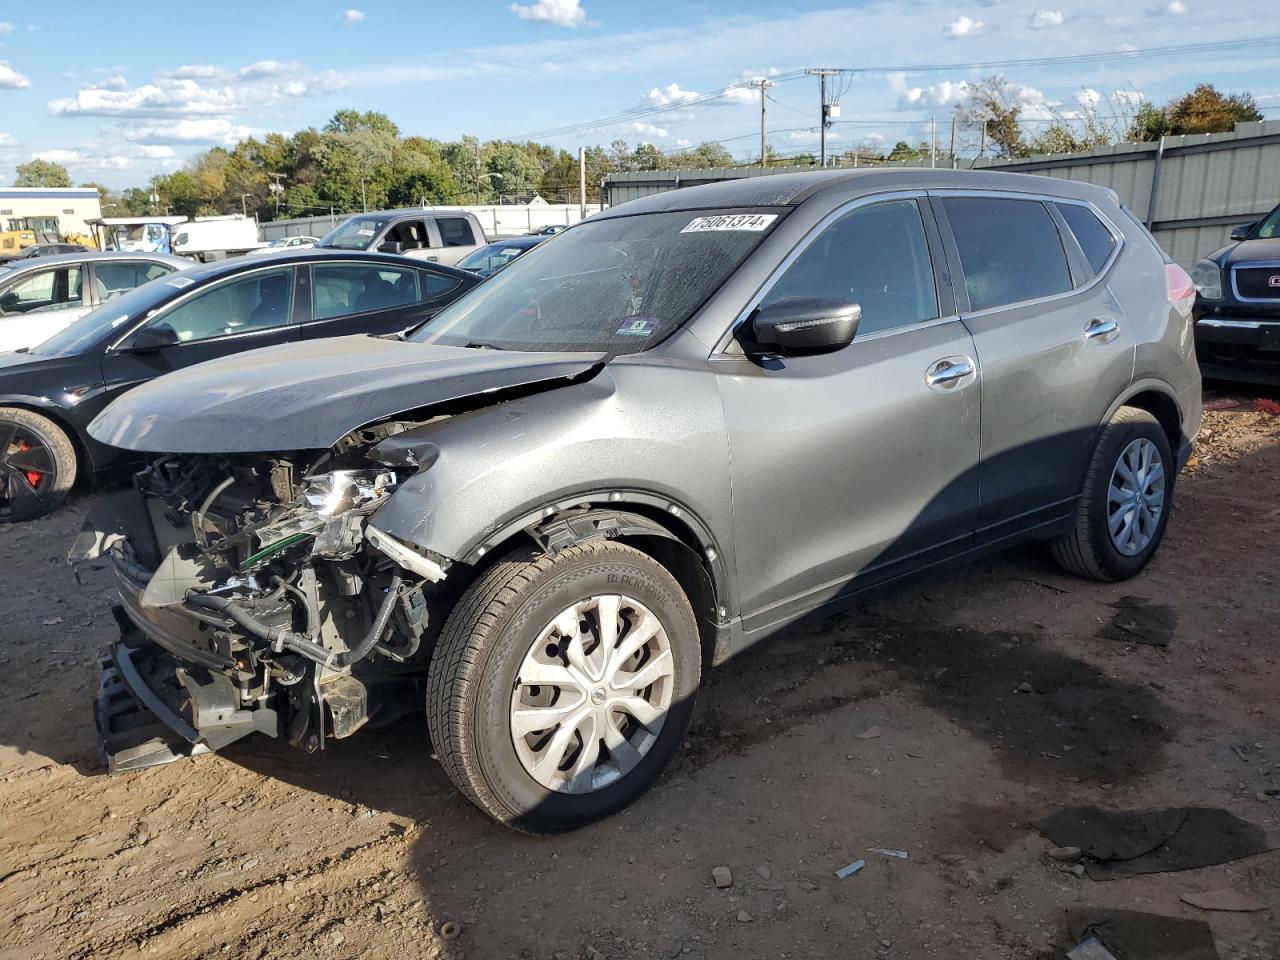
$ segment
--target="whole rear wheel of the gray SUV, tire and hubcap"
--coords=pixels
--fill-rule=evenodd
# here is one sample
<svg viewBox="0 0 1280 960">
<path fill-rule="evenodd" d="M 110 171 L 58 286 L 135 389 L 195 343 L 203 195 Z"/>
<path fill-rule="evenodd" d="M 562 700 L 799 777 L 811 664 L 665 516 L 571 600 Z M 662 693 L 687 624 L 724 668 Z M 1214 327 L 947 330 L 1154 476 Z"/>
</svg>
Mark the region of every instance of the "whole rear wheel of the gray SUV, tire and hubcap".
<svg viewBox="0 0 1280 960">
<path fill-rule="evenodd" d="M 1069 573 L 1128 580 L 1165 536 L 1176 466 L 1164 428 L 1147 411 L 1121 407 L 1102 429 L 1074 529 L 1053 543 Z"/>
</svg>

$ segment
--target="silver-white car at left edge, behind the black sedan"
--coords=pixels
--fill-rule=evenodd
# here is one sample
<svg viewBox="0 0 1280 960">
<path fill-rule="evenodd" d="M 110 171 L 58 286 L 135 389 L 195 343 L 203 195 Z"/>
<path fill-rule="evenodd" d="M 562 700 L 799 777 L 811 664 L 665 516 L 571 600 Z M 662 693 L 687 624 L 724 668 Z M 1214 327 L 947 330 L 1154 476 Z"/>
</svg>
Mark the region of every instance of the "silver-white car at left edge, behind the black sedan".
<svg viewBox="0 0 1280 960">
<path fill-rule="evenodd" d="M 0 353 L 44 343 L 113 297 L 188 266 L 166 253 L 60 253 L 0 264 Z"/>
</svg>

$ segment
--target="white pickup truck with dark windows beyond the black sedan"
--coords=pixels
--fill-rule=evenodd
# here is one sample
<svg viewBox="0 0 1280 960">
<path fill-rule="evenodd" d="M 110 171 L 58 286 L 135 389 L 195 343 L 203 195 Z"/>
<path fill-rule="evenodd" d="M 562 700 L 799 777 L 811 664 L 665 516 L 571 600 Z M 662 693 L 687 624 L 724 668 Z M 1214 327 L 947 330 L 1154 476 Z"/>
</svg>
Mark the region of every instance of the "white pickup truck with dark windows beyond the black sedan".
<svg viewBox="0 0 1280 960">
<path fill-rule="evenodd" d="M 456 266 L 488 242 L 480 220 L 463 210 L 384 210 L 356 214 L 329 230 L 316 246 L 403 253 Z"/>
</svg>

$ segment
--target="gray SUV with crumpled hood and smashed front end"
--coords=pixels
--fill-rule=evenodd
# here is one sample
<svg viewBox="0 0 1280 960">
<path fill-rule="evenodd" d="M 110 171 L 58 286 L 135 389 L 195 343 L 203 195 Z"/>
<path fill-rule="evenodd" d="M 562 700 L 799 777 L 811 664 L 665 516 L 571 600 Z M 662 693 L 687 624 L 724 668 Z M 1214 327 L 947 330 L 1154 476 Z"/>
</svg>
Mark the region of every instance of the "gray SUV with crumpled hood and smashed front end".
<svg viewBox="0 0 1280 960">
<path fill-rule="evenodd" d="M 1193 301 L 1097 187 L 790 174 L 605 211 L 407 335 L 138 387 L 91 433 L 150 466 L 73 550 L 119 581 L 104 753 L 425 705 L 495 819 L 608 814 L 701 671 L 806 613 L 1032 539 L 1138 573 L 1199 426 Z"/>
</svg>

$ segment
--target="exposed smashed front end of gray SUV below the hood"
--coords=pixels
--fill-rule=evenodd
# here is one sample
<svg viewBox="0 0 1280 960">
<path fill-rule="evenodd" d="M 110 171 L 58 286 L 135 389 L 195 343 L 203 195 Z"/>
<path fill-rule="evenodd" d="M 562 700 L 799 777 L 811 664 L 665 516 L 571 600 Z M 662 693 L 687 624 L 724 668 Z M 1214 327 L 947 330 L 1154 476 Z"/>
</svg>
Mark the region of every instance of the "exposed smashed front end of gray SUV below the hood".
<svg viewBox="0 0 1280 960">
<path fill-rule="evenodd" d="M 385 436 L 160 457 L 90 513 L 70 561 L 108 557 L 120 593 L 96 704 L 109 769 L 253 732 L 317 750 L 421 703 L 448 561 L 370 525 L 425 466 L 370 460 Z"/>
</svg>

